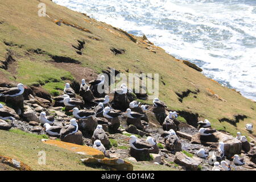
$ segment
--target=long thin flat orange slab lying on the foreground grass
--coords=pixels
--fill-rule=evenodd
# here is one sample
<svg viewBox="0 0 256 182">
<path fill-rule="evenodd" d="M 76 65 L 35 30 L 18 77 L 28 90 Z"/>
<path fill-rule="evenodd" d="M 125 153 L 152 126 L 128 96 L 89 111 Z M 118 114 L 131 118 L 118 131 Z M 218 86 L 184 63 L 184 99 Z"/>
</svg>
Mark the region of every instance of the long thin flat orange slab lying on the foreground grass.
<svg viewBox="0 0 256 182">
<path fill-rule="evenodd" d="M 104 154 L 92 147 L 88 146 L 81 146 L 79 144 L 74 144 L 74 143 L 67 143 L 67 142 L 61 142 L 58 140 L 47 140 L 47 139 L 42 139 L 43 143 L 50 144 L 52 146 L 64 148 L 69 151 L 73 152 L 79 152 L 81 155 L 86 155 L 86 156 L 93 156 L 94 158 L 98 159 L 103 159 L 105 158 Z"/>
</svg>

